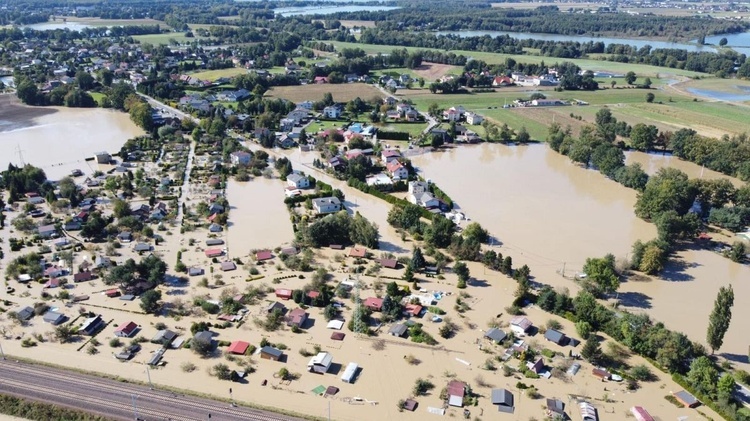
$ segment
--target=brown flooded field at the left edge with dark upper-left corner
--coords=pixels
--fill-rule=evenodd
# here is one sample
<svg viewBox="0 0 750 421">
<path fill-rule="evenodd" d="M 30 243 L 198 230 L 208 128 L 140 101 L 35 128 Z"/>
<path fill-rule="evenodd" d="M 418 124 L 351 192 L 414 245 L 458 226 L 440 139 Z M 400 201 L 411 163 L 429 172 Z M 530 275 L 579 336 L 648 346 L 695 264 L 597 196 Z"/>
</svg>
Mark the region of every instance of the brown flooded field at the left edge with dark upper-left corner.
<svg viewBox="0 0 750 421">
<path fill-rule="evenodd" d="M 12 112 L 8 111 L 12 107 Z M 23 162 L 52 179 L 79 168 L 96 171 L 96 152 L 115 153 L 129 138 L 144 134 L 127 114 L 98 108 L 23 107 L 0 104 L 0 168 Z M 19 154 L 20 150 L 20 154 Z"/>
</svg>

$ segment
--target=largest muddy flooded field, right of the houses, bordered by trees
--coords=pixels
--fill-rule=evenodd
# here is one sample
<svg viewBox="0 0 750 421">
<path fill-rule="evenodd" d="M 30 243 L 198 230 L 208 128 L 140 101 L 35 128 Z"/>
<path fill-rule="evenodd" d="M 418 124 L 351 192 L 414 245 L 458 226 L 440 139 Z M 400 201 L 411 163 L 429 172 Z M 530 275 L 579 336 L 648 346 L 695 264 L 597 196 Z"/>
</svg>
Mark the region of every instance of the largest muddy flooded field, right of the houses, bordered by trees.
<svg viewBox="0 0 750 421">
<path fill-rule="evenodd" d="M 502 242 L 546 283 L 572 284 L 586 257 L 625 257 L 655 228 L 635 217 L 635 192 L 585 170 L 545 145 L 483 144 L 413 158 L 425 178 Z M 459 176 L 460 175 L 460 176 Z M 516 263 L 518 262 L 518 263 Z"/>
</svg>

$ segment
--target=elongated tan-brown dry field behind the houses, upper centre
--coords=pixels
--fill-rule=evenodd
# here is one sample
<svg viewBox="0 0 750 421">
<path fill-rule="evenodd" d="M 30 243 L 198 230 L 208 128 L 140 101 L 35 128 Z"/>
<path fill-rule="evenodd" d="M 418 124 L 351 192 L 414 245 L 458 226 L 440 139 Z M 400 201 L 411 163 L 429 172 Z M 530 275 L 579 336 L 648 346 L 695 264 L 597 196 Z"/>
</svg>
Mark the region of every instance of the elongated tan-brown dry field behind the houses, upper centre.
<svg viewBox="0 0 750 421">
<path fill-rule="evenodd" d="M 383 96 L 383 93 L 379 89 L 362 83 L 276 86 L 271 88 L 266 93 L 266 96 L 284 98 L 296 103 L 302 101 L 320 101 L 326 92 L 330 92 L 333 95 L 333 100 L 337 102 L 347 102 L 357 97 L 367 100 L 372 97 Z"/>
</svg>

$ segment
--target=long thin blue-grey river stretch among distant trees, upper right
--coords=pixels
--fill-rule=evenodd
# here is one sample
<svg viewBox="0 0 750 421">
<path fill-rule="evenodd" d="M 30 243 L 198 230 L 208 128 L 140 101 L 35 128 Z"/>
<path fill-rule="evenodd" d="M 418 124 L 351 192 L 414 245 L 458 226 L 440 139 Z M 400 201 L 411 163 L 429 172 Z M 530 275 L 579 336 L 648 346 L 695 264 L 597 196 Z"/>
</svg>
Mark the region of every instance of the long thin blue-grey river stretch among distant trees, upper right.
<svg viewBox="0 0 750 421">
<path fill-rule="evenodd" d="M 558 34 L 542 34 L 542 33 L 530 33 L 530 32 L 508 32 L 508 31 L 438 31 L 436 35 L 458 35 L 460 37 L 481 37 L 489 35 L 493 38 L 503 35 L 508 35 L 515 39 L 538 39 L 544 41 L 573 41 L 573 42 L 603 42 L 604 45 L 608 44 L 626 44 L 634 45 L 638 48 L 650 45 L 653 48 L 679 48 L 688 51 L 710 51 L 715 52 L 716 49 L 710 46 L 698 45 L 698 44 L 686 44 L 678 42 L 668 41 L 653 41 L 648 39 L 632 39 L 632 38 L 609 38 L 609 37 L 592 37 L 586 35 L 558 35 Z"/>
</svg>

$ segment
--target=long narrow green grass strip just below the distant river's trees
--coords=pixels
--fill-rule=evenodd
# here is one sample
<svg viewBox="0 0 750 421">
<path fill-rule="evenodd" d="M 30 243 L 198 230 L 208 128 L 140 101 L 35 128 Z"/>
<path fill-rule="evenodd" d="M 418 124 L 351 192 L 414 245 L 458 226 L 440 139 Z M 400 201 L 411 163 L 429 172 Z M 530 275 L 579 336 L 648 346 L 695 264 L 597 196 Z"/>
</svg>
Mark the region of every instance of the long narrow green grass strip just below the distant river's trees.
<svg viewBox="0 0 750 421">
<path fill-rule="evenodd" d="M 394 49 L 403 49 L 403 48 L 406 48 L 409 51 L 436 50 L 436 49 L 431 49 L 431 48 L 399 47 L 395 45 L 372 45 L 372 44 L 359 44 L 359 43 L 353 43 L 353 42 L 339 42 L 339 41 L 326 41 L 326 42 L 333 44 L 337 49 L 361 48 L 362 50 L 364 50 L 365 52 L 369 54 L 378 54 L 378 53 L 388 54 L 392 52 Z M 440 50 L 440 51 L 443 51 L 443 50 Z M 585 70 L 601 70 L 601 71 L 610 71 L 613 73 L 622 73 L 622 74 L 625 74 L 629 71 L 633 71 L 639 75 L 651 76 L 652 79 L 656 75 L 667 75 L 667 74 L 678 75 L 678 76 L 688 76 L 688 77 L 705 75 L 704 73 L 691 72 L 688 70 L 670 69 L 666 67 L 656 67 L 656 66 L 649 66 L 645 64 L 617 63 L 617 62 L 604 61 L 604 60 L 562 59 L 562 58 L 557 58 L 557 57 L 542 57 L 542 56 L 532 56 L 532 55 L 522 55 L 522 54 L 498 54 L 498 53 L 485 53 L 485 52 L 461 51 L 461 50 L 455 50 L 452 52 L 458 55 L 464 55 L 465 57 L 473 57 L 477 60 L 484 60 L 485 62 L 489 64 L 504 63 L 505 59 L 507 58 L 512 58 L 516 60 L 517 62 L 521 62 L 521 63 L 536 63 L 536 64 L 541 63 L 541 62 L 545 62 L 547 64 L 554 64 L 554 63 L 559 63 L 563 61 L 572 61 L 576 63 L 579 67 Z"/>
</svg>

